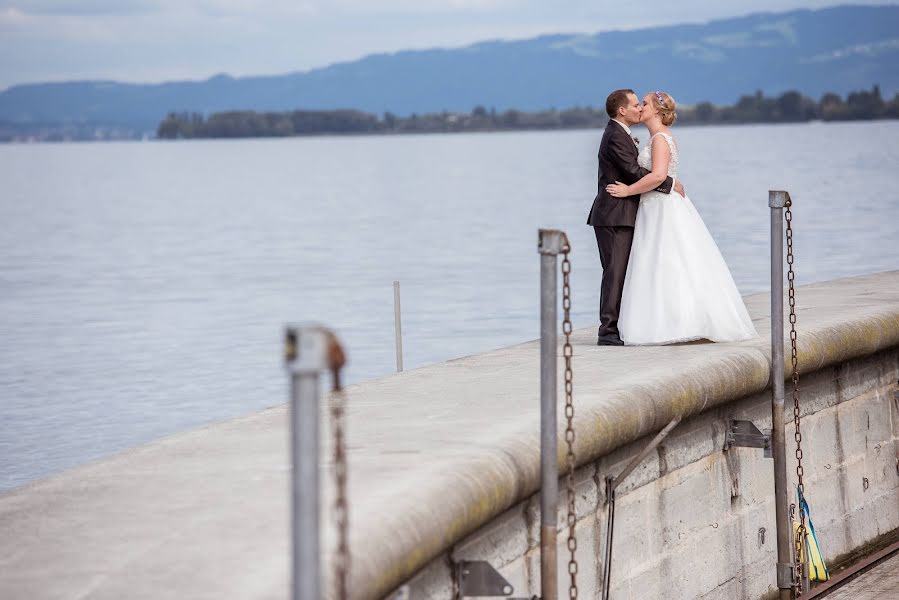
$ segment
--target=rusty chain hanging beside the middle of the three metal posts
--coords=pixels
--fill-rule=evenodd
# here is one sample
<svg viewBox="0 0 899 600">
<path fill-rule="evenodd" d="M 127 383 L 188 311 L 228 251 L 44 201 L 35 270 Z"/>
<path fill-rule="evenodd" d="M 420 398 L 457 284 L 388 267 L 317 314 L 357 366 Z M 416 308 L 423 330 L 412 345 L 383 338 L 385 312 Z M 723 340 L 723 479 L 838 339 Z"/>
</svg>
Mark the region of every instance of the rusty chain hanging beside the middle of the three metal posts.
<svg viewBox="0 0 899 600">
<path fill-rule="evenodd" d="M 568 551 L 571 558 L 568 559 L 568 574 L 571 577 L 571 583 L 568 586 L 568 597 L 570 600 L 577 600 L 577 538 L 574 534 L 574 527 L 577 524 L 577 512 L 575 507 L 575 491 L 574 491 L 574 401 L 573 401 L 573 371 L 571 369 L 571 357 L 574 351 L 571 346 L 571 283 L 569 276 L 571 274 L 571 261 L 568 255 L 571 247 L 568 244 L 562 247 L 562 333 L 565 335 L 565 345 L 563 346 L 562 355 L 565 357 L 565 442 L 568 445 L 568 453 L 566 461 L 568 463 Z"/>
</svg>

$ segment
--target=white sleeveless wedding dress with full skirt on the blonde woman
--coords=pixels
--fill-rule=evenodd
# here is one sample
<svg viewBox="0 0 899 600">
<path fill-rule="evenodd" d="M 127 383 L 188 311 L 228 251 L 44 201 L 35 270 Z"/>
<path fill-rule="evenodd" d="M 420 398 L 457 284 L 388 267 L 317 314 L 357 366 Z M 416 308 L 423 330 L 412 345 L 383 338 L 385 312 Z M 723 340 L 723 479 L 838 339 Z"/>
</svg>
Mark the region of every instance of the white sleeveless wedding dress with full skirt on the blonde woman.
<svg viewBox="0 0 899 600">
<path fill-rule="evenodd" d="M 676 177 L 677 146 L 666 133 L 641 150 L 640 166 L 652 169 L 653 141 L 668 143 L 668 175 Z M 690 199 L 677 192 L 640 197 L 618 330 L 629 346 L 757 335 L 715 240 Z"/>
</svg>

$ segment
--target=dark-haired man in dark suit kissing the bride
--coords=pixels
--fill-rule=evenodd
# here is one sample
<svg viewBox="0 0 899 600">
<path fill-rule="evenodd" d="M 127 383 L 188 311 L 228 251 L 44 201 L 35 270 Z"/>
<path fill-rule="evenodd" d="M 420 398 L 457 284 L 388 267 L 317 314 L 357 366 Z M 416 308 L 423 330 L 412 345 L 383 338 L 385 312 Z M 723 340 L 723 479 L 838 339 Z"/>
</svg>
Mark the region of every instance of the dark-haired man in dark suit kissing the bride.
<svg viewBox="0 0 899 600">
<path fill-rule="evenodd" d="M 606 192 L 606 186 L 616 181 L 628 185 L 636 183 L 649 171 L 637 164 L 637 138 L 633 137 L 630 129 L 640 122 L 643 114 L 637 94 L 629 89 L 615 90 L 606 99 L 606 112 L 611 120 L 599 144 L 599 193 L 593 199 L 587 225 L 592 225 L 596 233 L 602 263 L 597 344 L 623 346 L 618 332 L 618 312 L 640 196 L 615 198 Z M 670 194 L 673 184 L 671 177 L 668 177 L 656 190 Z M 683 193 L 680 183 L 675 190 Z"/>
</svg>

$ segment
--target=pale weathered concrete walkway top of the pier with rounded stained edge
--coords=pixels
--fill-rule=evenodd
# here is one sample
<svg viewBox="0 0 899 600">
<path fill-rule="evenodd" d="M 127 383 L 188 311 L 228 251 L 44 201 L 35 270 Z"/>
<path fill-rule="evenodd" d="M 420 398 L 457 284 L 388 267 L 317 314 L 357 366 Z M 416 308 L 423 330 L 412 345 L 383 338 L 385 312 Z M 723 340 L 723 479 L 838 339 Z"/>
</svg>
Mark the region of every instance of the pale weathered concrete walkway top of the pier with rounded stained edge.
<svg viewBox="0 0 899 600">
<path fill-rule="evenodd" d="M 806 286 L 798 298 L 804 372 L 899 346 L 899 271 Z M 699 415 L 762 394 L 770 377 L 768 297 L 750 297 L 747 304 L 761 335 L 739 344 L 608 348 L 593 345 L 592 326 L 576 332 L 584 511 L 595 506 L 597 481 L 585 475 L 592 463 L 626 460 L 628 444 L 675 415 Z M 535 510 L 526 501 L 539 478 L 538 389 L 536 342 L 349 388 L 354 597 L 387 594 L 478 528 L 507 518 L 513 507 Z M 752 403 L 743 410 L 752 412 Z M 279 407 L 173 436 L 0 496 L 0 597 L 285 597 L 285 416 Z M 891 427 L 895 437 L 897 425 Z M 718 442 L 704 438 L 705 450 L 689 452 L 710 456 Z M 682 464 L 680 470 L 692 468 L 687 456 L 659 457 Z M 723 459 L 713 468 L 727 473 Z M 636 488 L 645 471 L 628 485 Z M 656 463 L 653 476 L 659 472 Z M 764 483 L 742 478 L 744 494 L 753 485 Z M 683 500 L 700 503 L 697 509 L 717 497 L 694 492 Z M 624 503 L 619 510 L 619 531 L 633 530 L 623 521 L 634 511 Z M 765 508 L 755 510 L 761 523 Z M 745 520 L 718 525 L 740 527 Z M 522 569 L 534 571 L 528 548 L 536 532 L 510 527 L 495 543 L 482 537 L 480 543 L 492 545 L 493 556 L 524 556 Z M 639 535 L 616 537 L 616 552 L 640 543 Z M 581 548 L 595 554 L 600 540 L 584 540 Z M 651 551 L 645 549 L 647 559 Z M 649 560 L 645 569 L 651 568 Z M 585 568 L 582 577 L 597 574 Z M 728 590 L 721 588 L 720 597 L 732 597 Z"/>
</svg>

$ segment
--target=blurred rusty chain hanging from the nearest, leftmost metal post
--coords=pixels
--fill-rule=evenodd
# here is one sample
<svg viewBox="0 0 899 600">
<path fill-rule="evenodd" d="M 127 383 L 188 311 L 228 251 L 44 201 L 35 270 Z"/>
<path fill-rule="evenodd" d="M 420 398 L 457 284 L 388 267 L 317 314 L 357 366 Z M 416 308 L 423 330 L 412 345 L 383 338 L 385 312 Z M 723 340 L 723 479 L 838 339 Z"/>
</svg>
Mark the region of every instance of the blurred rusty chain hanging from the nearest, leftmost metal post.
<svg viewBox="0 0 899 600">
<path fill-rule="evenodd" d="M 331 427 L 334 437 L 334 520 L 337 525 L 337 556 L 334 561 L 334 585 L 337 600 L 349 599 L 350 544 L 349 504 L 347 502 L 347 460 L 345 439 L 346 392 L 340 382 L 340 371 L 346 362 L 343 350 L 332 339 L 330 362 L 334 376 L 331 393 Z"/>
</svg>

